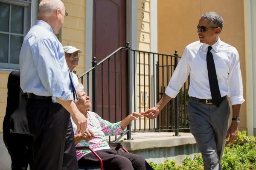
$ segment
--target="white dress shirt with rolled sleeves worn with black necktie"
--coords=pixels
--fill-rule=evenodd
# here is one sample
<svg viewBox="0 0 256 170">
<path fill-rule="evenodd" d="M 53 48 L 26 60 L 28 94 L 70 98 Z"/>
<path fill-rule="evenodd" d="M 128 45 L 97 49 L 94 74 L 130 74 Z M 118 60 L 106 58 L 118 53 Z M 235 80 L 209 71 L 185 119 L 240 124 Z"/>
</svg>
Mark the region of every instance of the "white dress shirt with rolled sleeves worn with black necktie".
<svg viewBox="0 0 256 170">
<path fill-rule="evenodd" d="M 186 46 L 166 88 L 165 93 L 168 96 L 175 98 L 190 75 L 189 96 L 212 99 L 206 63 L 208 46 L 200 41 Z M 243 84 L 238 51 L 220 39 L 211 46 L 210 52 L 215 63 L 221 97 L 230 96 L 232 105 L 243 103 Z"/>
</svg>

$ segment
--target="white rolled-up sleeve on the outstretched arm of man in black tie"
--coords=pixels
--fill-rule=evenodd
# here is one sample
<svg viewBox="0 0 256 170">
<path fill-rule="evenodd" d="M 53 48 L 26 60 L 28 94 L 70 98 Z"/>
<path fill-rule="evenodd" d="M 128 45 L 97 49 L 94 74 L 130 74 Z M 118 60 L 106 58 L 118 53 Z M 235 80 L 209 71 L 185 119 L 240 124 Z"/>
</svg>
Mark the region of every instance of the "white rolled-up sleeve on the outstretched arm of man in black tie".
<svg viewBox="0 0 256 170">
<path fill-rule="evenodd" d="M 185 48 L 183 55 L 175 68 L 174 73 L 166 88 L 165 94 L 171 98 L 175 98 L 180 91 L 180 88 L 185 83 L 189 76 L 190 67 L 188 64 L 188 49 Z"/>
</svg>

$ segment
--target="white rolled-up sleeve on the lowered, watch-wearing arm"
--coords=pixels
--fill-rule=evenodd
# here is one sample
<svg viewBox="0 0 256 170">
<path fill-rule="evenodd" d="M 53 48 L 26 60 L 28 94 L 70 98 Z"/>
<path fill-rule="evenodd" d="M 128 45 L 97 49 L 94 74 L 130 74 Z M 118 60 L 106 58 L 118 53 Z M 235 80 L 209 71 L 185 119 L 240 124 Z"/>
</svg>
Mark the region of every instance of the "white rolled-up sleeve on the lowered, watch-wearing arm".
<svg viewBox="0 0 256 170">
<path fill-rule="evenodd" d="M 243 83 L 238 51 L 233 52 L 232 55 L 233 56 L 229 72 L 228 85 L 231 104 L 238 105 L 242 104 L 245 101 L 243 97 Z"/>
</svg>

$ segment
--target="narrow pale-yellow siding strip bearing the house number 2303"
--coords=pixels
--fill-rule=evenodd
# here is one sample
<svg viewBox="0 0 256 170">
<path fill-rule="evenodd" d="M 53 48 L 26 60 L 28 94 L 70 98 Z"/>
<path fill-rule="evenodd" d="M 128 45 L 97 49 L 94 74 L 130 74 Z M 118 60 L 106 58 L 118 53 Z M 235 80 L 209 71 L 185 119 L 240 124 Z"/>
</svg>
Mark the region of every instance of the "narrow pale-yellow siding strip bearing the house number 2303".
<svg viewBox="0 0 256 170">
<path fill-rule="evenodd" d="M 150 0 L 137 0 L 137 49 L 140 51 L 150 51 Z M 145 61 L 144 61 L 145 55 Z M 144 65 L 145 63 L 145 82 L 144 82 Z M 139 69 L 140 67 L 140 69 Z M 150 63 L 148 54 L 137 54 L 137 111 L 145 111 L 149 105 L 149 71 Z M 140 72 L 139 72 L 140 70 Z M 145 86 L 144 86 L 145 85 Z M 146 101 L 143 100 L 143 94 L 146 96 Z M 145 105 L 145 107 L 144 107 Z M 139 122 L 141 126 L 139 127 Z M 136 129 L 148 128 L 149 121 L 147 118 L 139 118 L 136 120 Z M 152 122 L 152 121 L 151 121 Z M 152 125 L 151 125 L 152 127 Z"/>
</svg>

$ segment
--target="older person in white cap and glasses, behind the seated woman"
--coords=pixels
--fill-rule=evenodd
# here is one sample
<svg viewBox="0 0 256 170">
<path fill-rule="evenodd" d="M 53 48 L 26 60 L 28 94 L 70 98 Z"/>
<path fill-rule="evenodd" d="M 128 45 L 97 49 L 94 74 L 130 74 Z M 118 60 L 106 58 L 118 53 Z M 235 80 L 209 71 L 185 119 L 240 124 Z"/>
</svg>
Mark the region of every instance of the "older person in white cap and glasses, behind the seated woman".
<svg viewBox="0 0 256 170">
<path fill-rule="evenodd" d="M 74 71 L 74 68 L 78 65 L 79 57 L 80 57 L 79 53 L 82 53 L 83 51 L 77 49 L 74 46 L 70 46 L 70 45 L 64 46 L 63 49 L 64 49 L 64 53 L 65 53 L 65 59 L 67 62 L 67 66 L 70 69 L 70 72 L 72 73 L 73 80 L 74 80 L 74 83 L 76 86 L 79 84 L 79 81 L 77 79 L 76 74 L 74 74 L 73 71 Z"/>
</svg>

